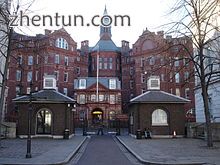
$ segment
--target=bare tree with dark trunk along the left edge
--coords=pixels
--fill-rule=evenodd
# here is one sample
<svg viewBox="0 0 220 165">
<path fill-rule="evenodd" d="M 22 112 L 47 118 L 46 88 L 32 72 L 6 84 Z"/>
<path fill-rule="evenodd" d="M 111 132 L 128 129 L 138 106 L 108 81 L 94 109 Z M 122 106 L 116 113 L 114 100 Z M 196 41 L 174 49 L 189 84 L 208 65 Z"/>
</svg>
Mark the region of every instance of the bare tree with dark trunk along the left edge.
<svg viewBox="0 0 220 165">
<path fill-rule="evenodd" d="M 12 3 L 11 0 L 0 0 L 0 135 L 1 124 L 3 120 L 3 109 L 5 102 L 5 91 L 8 78 L 9 60 L 13 58 L 11 52 L 13 51 L 12 42 L 14 28 L 10 26 L 10 15 L 16 15 L 19 10 L 29 11 L 29 8 L 35 0 L 30 0 L 26 4 L 21 5 L 20 1 Z M 20 28 L 17 28 L 21 30 Z M 17 41 L 16 41 L 17 42 Z M 1 147 L 1 141 L 0 141 Z"/>
</svg>

